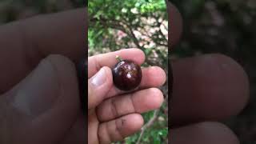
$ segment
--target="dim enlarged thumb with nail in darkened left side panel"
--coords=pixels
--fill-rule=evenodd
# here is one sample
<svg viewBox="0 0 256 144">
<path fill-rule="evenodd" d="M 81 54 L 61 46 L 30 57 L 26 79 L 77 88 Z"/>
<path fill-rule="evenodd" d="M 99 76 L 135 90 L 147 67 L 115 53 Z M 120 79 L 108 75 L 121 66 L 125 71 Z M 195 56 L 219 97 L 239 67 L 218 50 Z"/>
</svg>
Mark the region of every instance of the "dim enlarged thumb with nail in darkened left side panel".
<svg viewBox="0 0 256 144">
<path fill-rule="evenodd" d="M 10 126 L 7 142 L 61 142 L 78 118 L 78 94 L 76 71 L 68 58 L 51 55 L 42 60 L 3 96 L 8 107 L 5 122 Z"/>
</svg>

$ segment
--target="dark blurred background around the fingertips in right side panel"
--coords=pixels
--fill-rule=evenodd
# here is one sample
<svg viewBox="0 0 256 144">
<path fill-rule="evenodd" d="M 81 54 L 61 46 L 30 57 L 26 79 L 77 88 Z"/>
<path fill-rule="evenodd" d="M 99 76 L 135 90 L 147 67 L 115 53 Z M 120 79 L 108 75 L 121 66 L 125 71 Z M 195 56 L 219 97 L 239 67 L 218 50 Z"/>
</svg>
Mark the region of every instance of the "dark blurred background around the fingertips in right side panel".
<svg viewBox="0 0 256 144">
<path fill-rule="evenodd" d="M 241 143 L 256 142 L 256 1 L 170 0 L 182 13 L 182 41 L 171 53 L 182 58 L 222 53 L 234 58 L 249 74 L 250 102 L 225 123 Z"/>
</svg>

